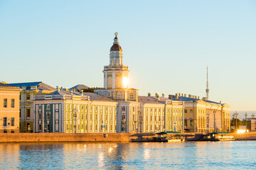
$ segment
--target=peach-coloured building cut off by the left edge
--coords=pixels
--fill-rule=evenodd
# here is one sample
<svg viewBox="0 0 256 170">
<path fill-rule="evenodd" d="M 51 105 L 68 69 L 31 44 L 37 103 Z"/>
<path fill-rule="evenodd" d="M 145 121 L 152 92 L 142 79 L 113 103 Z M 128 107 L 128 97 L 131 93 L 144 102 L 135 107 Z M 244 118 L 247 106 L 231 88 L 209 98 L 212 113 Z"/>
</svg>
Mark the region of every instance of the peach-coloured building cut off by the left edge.
<svg viewBox="0 0 256 170">
<path fill-rule="evenodd" d="M 0 83 L 0 132 L 19 132 L 19 96 L 21 89 Z"/>
</svg>

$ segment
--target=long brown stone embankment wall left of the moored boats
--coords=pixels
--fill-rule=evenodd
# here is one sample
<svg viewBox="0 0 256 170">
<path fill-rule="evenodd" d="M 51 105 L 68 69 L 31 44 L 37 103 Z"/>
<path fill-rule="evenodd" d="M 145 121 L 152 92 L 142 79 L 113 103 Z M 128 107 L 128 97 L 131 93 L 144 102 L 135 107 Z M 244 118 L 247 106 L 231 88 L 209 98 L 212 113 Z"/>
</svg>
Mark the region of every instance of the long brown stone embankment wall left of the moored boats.
<svg viewBox="0 0 256 170">
<path fill-rule="evenodd" d="M 134 133 L 0 133 L 0 142 L 130 142 Z"/>
</svg>

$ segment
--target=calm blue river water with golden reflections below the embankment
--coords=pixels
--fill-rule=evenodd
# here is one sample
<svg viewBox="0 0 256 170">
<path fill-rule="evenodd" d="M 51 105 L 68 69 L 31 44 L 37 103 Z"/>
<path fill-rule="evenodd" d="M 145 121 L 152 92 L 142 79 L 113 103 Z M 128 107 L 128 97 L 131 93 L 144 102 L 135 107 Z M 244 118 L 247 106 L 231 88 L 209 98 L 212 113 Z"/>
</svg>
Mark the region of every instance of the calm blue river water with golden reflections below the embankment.
<svg viewBox="0 0 256 170">
<path fill-rule="evenodd" d="M 0 169 L 256 169 L 256 141 L 0 143 Z"/>
</svg>

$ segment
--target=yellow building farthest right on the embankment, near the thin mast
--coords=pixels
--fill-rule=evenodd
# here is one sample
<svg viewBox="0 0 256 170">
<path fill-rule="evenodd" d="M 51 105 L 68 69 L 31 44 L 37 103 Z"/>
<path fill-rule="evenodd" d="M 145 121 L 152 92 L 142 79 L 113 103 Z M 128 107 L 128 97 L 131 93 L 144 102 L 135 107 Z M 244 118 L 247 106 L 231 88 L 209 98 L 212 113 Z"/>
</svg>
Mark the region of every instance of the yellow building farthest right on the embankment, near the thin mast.
<svg viewBox="0 0 256 170">
<path fill-rule="evenodd" d="M 186 94 L 170 95 L 169 98 L 184 102 L 184 128 L 187 132 L 230 132 L 228 104 Z"/>
</svg>

